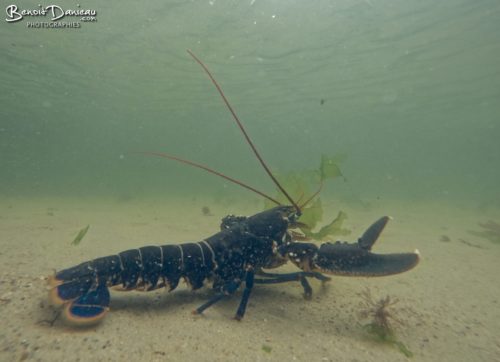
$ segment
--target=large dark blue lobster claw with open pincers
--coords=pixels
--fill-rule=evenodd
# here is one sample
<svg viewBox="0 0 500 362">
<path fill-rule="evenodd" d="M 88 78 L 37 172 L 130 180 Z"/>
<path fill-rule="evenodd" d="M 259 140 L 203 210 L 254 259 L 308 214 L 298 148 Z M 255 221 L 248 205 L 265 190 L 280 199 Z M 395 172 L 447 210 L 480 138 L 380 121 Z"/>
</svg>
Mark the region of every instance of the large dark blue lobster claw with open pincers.
<svg viewBox="0 0 500 362">
<path fill-rule="evenodd" d="M 398 274 L 415 267 L 419 262 L 419 252 L 398 254 L 375 254 L 370 250 L 389 221 L 384 216 L 373 223 L 357 243 L 322 244 L 310 267 L 313 271 L 344 276 L 384 276 Z"/>
</svg>

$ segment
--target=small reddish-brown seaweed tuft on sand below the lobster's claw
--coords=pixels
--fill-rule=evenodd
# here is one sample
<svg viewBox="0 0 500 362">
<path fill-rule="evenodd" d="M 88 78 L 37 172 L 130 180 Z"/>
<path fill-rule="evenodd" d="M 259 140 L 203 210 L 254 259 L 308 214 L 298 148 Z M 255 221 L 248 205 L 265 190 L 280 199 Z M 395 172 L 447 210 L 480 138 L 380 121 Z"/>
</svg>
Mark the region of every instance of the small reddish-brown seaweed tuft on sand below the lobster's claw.
<svg viewBox="0 0 500 362">
<path fill-rule="evenodd" d="M 413 353 L 401 342 L 394 331 L 394 325 L 403 325 L 396 317 L 393 306 L 399 302 L 398 299 L 391 299 L 389 295 L 379 300 L 374 300 L 369 289 L 360 294 L 363 298 L 361 311 L 363 318 L 371 318 L 371 322 L 363 325 L 363 328 L 370 337 L 383 344 L 396 347 L 406 357 L 412 357 Z"/>
</svg>

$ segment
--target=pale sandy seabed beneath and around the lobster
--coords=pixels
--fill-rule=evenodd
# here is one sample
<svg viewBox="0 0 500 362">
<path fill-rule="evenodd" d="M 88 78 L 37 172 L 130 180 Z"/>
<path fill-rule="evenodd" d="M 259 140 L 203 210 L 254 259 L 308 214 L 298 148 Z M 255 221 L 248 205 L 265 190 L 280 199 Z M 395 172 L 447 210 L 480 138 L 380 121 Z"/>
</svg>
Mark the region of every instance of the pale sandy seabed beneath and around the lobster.
<svg viewBox="0 0 500 362">
<path fill-rule="evenodd" d="M 213 203 L 206 202 L 206 205 Z M 112 292 L 111 312 L 90 328 L 64 320 L 48 300 L 55 269 L 146 245 L 197 241 L 215 233 L 228 213 L 250 215 L 259 204 L 214 205 L 80 199 L 9 199 L 0 206 L 1 361 L 405 361 L 397 348 L 375 343 L 361 294 L 390 295 L 402 324 L 395 330 L 415 361 L 500 361 L 500 245 L 468 233 L 500 211 L 439 204 L 380 203 L 343 207 L 355 240 L 378 217 L 394 217 L 374 252 L 409 252 L 413 270 L 382 278 L 311 281 L 312 300 L 298 283 L 254 288 L 245 318 L 232 319 L 240 293 L 191 311 L 212 295 L 180 285 L 149 293 Z M 332 215 L 336 212 L 332 210 Z M 78 231 L 90 225 L 78 246 Z M 445 241 L 447 240 L 448 241 Z M 292 265 L 280 271 L 293 271 Z"/>
</svg>

